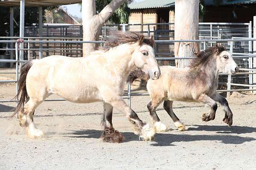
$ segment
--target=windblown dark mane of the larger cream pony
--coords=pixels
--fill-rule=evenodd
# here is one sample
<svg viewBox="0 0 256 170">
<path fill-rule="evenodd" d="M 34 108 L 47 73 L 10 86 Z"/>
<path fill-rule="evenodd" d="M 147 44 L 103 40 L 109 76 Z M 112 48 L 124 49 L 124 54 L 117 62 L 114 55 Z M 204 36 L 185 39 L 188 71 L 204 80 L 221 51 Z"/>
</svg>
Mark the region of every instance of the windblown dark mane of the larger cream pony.
<svg viewBox="0 0 256 170">
<path fill-rule="evenodd" d="M 136 32 L 124 33 L 122 31 L 117 31 L 111 32 L 110 36 L 107 38 L 105 42 L 105 46 L 99 49 L 107 51 L 110 48 L 117 47 L 121 44 L 132 44 L 136 42 L 139 42 L 139 45 L 142 45 L 142 43 L 144 42 L 145 44 L 154 47 L 153 37 L 145 37 L 143 34 L 137 34 Z"/>
</svg>

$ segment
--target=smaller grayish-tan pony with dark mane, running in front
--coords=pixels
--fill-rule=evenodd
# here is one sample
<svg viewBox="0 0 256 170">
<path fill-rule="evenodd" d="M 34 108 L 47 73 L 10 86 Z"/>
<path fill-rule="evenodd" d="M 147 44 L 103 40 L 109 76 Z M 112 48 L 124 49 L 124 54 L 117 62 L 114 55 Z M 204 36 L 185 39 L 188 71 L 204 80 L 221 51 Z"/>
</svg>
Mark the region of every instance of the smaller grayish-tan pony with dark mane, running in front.
<svg viewBox="0 0 256 170">
<path fill-rule="evenodd" d="M 203 121 L 215 119 L 217 103 L 219 102 L 225 111 L 223 121 L 232 125 L 233 114 L 227 100 L 216 92 L 218 87 L 218 74 L 232 74 L 238 72 L 236 62 L 224 46 L 207 48 L 201 51 L 197 58 L 192 59 L 188 68 L 176 68 L 172 66 L 160 66 L 161 76 L 157 80 L 148 80 L 147 90 L 151 101 L 147 107 L 150 112 L 151 122 L 146 126 L 151 128 L 152 135 L 155 131 L 168 130 L 166 125 L 160 122 L 156 108 L 164 101 L 163 108 L 172 118 L 178 130 L 186 130 L 185 125 L 180 121 L 172 110 L 173 101 L 201 102 L 209 105 L 209 113 L 202 116 Z M 142 77 L 140 69 L 131 71 L 128 81 L 132 83 L 138 77 Z"/>
</svg>

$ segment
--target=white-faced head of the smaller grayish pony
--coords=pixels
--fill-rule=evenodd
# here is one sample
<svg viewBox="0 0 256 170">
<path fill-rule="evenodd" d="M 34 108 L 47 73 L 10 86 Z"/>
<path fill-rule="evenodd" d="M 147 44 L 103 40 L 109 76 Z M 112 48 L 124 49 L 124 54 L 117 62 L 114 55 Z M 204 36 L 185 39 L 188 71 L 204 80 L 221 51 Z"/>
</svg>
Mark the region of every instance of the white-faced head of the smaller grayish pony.
<svg viewBox="0 0 256 170">
<path fill-rule="evenodd" d="M 239 71 L 236 62 L 229 52 L 222 45 L 216 45 L 216 62 L 219 73 L 232 74 Z"/>
</svg>

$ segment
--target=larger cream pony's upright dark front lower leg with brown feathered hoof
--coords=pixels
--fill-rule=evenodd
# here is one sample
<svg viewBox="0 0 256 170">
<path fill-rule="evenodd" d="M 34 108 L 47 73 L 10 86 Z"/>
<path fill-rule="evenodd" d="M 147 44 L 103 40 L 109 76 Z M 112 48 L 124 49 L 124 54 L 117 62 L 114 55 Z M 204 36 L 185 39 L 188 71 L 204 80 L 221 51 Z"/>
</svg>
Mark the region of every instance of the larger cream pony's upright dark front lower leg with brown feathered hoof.
<svg viewBox="0 0 256 170">
<path fill-rule="evenodd" d="M 101 138 L 103 142 L 121 143 L 125 137 L 118 130 L 115 130 L 112 125 L 113 107 L 108 103 L 104 103 L 104 113 L 102 115 L 102 130 Z"/>
</svg>

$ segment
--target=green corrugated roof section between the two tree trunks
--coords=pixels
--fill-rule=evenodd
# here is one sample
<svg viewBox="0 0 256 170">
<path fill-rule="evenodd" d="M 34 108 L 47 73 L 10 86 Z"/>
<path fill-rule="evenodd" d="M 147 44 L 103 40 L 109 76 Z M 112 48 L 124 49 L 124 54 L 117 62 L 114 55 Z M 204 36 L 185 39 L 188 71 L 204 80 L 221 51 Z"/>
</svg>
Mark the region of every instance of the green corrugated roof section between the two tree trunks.
<svg viewBox="0 0 256 170">
<path fill-rule="evenodd" d="M 142 9 L 142 8 L 165 8 L 174 6 L 175 0 L 143 0 L 137 3 L 131 3 L 128 5 L 130 9 Z"/>
</svg>

